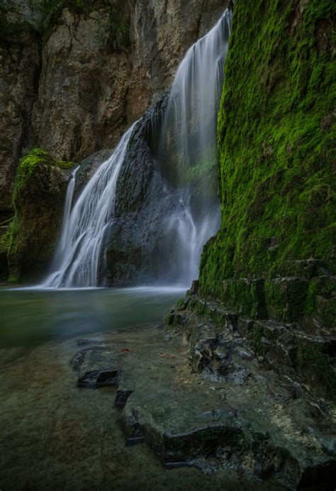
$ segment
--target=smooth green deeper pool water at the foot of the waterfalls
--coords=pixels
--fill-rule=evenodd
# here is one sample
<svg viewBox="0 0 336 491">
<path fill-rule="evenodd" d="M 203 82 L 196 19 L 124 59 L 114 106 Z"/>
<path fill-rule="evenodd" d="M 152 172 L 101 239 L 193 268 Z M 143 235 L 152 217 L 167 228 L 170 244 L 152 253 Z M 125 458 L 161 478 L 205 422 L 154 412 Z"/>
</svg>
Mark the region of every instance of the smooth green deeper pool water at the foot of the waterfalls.
<svg viewBox="0 0 336 491">
<path fill-rule="evenodd" d="M 185 293 L 185 287 L 1 288 L 0 348 L 158 323 Z"/>
</svg>

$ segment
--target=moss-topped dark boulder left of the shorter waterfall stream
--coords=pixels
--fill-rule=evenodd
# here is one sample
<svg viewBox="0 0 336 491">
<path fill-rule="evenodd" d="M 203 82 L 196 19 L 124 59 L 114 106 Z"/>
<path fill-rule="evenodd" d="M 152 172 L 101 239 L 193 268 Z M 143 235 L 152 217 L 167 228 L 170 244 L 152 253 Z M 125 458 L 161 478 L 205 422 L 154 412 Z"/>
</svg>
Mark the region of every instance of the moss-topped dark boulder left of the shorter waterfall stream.
<svg viewBox="0 0 336 491">
<path fill-rule="evenodd" d="M 55 251 L 73 162 L 34 148 L 18 166 L 9 236 L 10 282 L 38 280 Z"/>
</svg>

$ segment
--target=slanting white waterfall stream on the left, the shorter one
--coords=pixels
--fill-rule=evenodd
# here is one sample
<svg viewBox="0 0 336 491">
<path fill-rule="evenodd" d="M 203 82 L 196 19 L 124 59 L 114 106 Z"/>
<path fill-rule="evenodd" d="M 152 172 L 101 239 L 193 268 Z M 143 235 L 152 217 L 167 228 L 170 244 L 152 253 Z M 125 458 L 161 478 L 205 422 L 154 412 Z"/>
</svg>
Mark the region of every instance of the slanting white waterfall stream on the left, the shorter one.
<svg viewBox="0 0 336 491">
<path fill-rule="evenodd" d="M 101 243 L 106 226 L 113 219 L 116 184 L 133 126 L 125 133 L 111 157 L 103 162 L 79 196 L 71 213 L 65 206 L 62 237 L 54 270 L 43 283 L 45 288 L 94 287 L 97 284 Z M 72 198 L 69 183 L 67 199 Z"/>
</svg>

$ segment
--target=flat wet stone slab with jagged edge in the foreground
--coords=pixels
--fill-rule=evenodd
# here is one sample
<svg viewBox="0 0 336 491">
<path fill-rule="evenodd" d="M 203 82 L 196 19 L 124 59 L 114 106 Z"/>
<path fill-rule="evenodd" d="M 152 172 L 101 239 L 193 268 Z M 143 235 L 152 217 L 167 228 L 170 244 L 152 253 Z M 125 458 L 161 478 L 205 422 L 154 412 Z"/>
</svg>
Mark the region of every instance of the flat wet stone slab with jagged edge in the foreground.
<svg viewBox="0 0 336 491">
<path fill-rule="evenodd" d="M 220 366 L 228 358 L 219 375 L 196 373 L 189 344 L 168 341 L 159 329 L 111 333 L 103 343 L 90 338 L 80 346 L 79 386 L 116 385 L 128 440 L 145 441 L 165 465 L 242 468 L 289 488 L 335 475 L 335 407 L 267 369 L 236 333 L 215 350 Z"/>
</svg>

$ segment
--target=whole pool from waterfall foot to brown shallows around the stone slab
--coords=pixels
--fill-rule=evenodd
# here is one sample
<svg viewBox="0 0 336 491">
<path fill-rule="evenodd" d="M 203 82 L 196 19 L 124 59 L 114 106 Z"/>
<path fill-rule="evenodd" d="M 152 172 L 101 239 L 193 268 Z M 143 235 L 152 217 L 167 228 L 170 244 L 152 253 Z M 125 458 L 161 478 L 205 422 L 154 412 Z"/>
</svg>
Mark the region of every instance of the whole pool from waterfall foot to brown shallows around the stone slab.
<svg viewBox="0 0 336 491">
<path fill-rule="evenodd" d="M 114 336 L 121 336 L 121 347 L 134 353 L 138 345 L 128 344 L 133 335 L 142 363 L 157 336 L 152 327 L 185 291 L 0 289 L 1 489 L 269 489 L 236 470 L 208 475 L 191 467 L 164 468 L 149 446 L 125 444 L 121 409 L 113 404 L 116 387 L 77 387 L 70 362 L 90 346 L 80 339 L 114 343 Z"/>
</svg>

